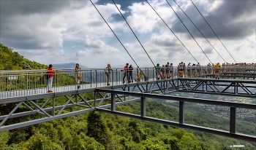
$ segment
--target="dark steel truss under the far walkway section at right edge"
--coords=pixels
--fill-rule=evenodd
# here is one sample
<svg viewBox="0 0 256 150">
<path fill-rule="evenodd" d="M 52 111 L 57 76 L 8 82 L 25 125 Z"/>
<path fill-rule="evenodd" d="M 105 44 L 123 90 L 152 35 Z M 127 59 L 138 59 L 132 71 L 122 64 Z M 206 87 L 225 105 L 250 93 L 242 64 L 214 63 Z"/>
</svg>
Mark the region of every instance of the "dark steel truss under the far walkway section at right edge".
<svg viewBox="0 0 256 150">
<path fill-rule="evenodd" d="M 178 92 L 256 98 L 256 82 L 217 79 L 178 79 Z"/>
</svg>

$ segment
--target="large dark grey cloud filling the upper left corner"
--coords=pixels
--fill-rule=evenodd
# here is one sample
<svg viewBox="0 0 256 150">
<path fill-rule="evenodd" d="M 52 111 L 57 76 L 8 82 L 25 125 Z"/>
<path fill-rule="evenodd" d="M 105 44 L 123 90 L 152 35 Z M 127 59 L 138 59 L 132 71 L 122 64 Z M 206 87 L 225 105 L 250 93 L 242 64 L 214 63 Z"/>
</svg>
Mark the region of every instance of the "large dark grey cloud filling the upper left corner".
<svg viewBox="0 0 256 150">
<path fill-rule="evenodd" d="M 58 20 L 48 21 L 53 15 L 79 9 L 89 1 L 31 0 L 0 1 L 1 43 L 24 50 L 42 50 L 60 47 L 62 25 Z M 49 30 L 50 28 L 50 30 Z M 61 30 L 61 31 L 57 31 Z"/>
</svg>

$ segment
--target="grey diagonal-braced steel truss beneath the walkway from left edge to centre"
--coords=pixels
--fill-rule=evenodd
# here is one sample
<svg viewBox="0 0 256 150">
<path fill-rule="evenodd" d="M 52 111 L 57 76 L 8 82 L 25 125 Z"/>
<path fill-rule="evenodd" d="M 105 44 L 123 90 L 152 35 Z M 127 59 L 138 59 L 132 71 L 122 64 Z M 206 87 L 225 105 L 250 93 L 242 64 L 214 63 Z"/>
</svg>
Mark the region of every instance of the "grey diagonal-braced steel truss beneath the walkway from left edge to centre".
<svg viewBox="0 0 256 150">
<path fill-rule="evenodd" d="M 138 92 L 157 92 L 161 91 L 162 93 L 167 91 L 176 91 L 175 84 L 176 80 L 161 80 L 153 81 L 153 82 L 140 82 L 134 84 L 123 84 L 112 87 L 106 87 L 110 89 L 118 89 L 123 91 L 135 91 Z M 87 93 L 94 92 L 95 100 L 86 100 L 84 97 Z M 61 106 L 56 106 L 56 98 L 64 96 L 67 99 L 66 103 Z M 133 101 L 137 101 L 140 99 L 132 99 L 130 100 L 129 96 L 126 95 L 118 95 L 116 94 L 116 103 L 118 105 L 122 105 L 125 103 L 131 103 Z M 113 96 L 112 96 L 113 97 Z M 46 98 L 44 103 L 42 103 L 42 98 Z M 64 117 L 70 117 L 77 114 L 83 114 L 90 111 L 95 111 L 95 108 L 110 108 L 109 104 L 111 100 L 111 95 L 108 93 L 95 92 L 94 89 L 86 89 L 86 90 L 74 90 L 68 92 L 55 92 L 55 93 L 47 93 L 42 95 L 29 95 L 18 98 L 6 98 L 0 100 L 1 104 L 7 103 L 16 103 L 15 108 L 12 111 L 8 112 L 7 115 L 0 116 L 0 132 L 5 130 L 12 130 L 19 127 L 26 127 L 29 125 L 36 125 L 42 122 L 48 122 L 54 119 L 61 119 Z M 104 103 L 107 101 L 107 103 Z M 41 105 L 38 103 L 41 102 Z M 104 104 L 103 104 L 104 103 Z M 49 105 L 51 107 L 49 107 Z M 26 111 L 16 112 L 20 106 L 24 106 Z M 48 106 L 46 108 L 45 106 Z M 75 106 L 80 106 L 83 110 L 80 111 L 72 111 L 68 113 L 64 113 L 66 108 L 72 108 Z M 28 122 L 18 122 L 15 124 L 8 124 L 8 119 L 18 118 L 18 117 L 26 117 L 32 114 L 42 114 L 41 119 L 34 119 Z"/>
</svg>

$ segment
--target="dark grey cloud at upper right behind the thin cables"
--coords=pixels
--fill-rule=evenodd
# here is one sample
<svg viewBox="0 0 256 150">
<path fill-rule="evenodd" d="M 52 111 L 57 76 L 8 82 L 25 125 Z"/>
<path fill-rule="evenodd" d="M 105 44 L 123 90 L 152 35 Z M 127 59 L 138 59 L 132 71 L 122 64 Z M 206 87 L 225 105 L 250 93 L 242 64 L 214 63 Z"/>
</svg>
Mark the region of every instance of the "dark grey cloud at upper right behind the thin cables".
<svg viewBox="0 0 256 150">
<path fill-rule="evenodd" d="M 189 1 L 190 2 L 190 1 Z M 217 36 L 221 39 L 241 39 L 246 36 L 250 36 L 255 33 L 255 1 L 222 1 L 222 4 L 214 9 L 213 12 L 209 12 L 208 15 L 204 15 L 211 28 L 217 33 Z M 206 9 L 203 6 L 195 3 L 201 13 L 205 14 Z M 206 36 L 206 38 L 217 38 L 208 27 L 203 17 L 193 5 L 187 7 L 184 10 L 190 19 L 197 25 L 197 28 Z M 189 31 L 193 36 L 202 37 L 199 31 L 192 25 L 192 23 L 185 17 L 181 10 L 178 10 L 178 15 L 181 16 L 184 24 L 187 25 Z M 175 16 L 176 17 L 176 16 Z M 248 19 L 250 17 L 250 19 Z M 246 20 L 247 19 L 247 20 Z M 191 38 L 181 21 L 173 21 L 173 31 L 187 33 L 187 36 Z M 183 28 L 183 29 L 182 29 Z"/>
</svg>

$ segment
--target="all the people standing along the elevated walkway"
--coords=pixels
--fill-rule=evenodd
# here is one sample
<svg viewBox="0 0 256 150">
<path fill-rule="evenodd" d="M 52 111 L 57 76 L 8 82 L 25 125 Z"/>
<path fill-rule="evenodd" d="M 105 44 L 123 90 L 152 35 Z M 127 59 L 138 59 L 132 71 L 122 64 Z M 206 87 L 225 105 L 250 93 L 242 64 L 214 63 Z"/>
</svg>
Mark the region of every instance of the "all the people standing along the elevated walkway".
<svg viewBox="0 0 256 150">
<path fill-rule="evenodd" d="M 255 63 L 222 63 L 222 66 L 219 63 L 208 63 L 206 65 L 206 68 L 201 67 L 200 63 L 188 63 L 187 66 L 184 62 L 181 62 L 178 64 L 178 77 L 183 76 L 200 76 L 202 71 L 211 74 L 211 72 L 214 72 L 214 78 L 219 79 L 220 78 L 220 71 L 221 68 L 228 68 L 228 67 L 238 67 L 238 66 L 256 66 Z M 155 72 L 157 79 L 173 79 L 173 63 L 167 62 L 165 65 L 160 66 L 159 63 L 157 63 L 157 66 L 155 66 Z M 108 63 L 107 67 L 105 68 L 105 74 L 107 76 L 107 85 L 110 85 L 110 74 L 112 72 L 112 68 L 110 66 L 110 63 Z M 143 78 L 145 78 L 145 74 L 143 71 L 139 71 L 138 74 L 135 75 L 135 80 L 133 80 L 133 66 L 129 65 L 129 63 L 124 66 L 123 70 L 123 84 L 125 82 L 131 83 L 131 82 L 142 82 Z M 47 70 L 47 92 L 53 92 L 51 90 L 52 84 L 53 84 L 53 65 L 49 65 Z M 75 82 L 78 85 L 78 89 L 80 89 L 80 81 L 82 79 L 82 71 L 79 67 L 79 64 L 76 63 L 75 66 Z"/>
</svg>

